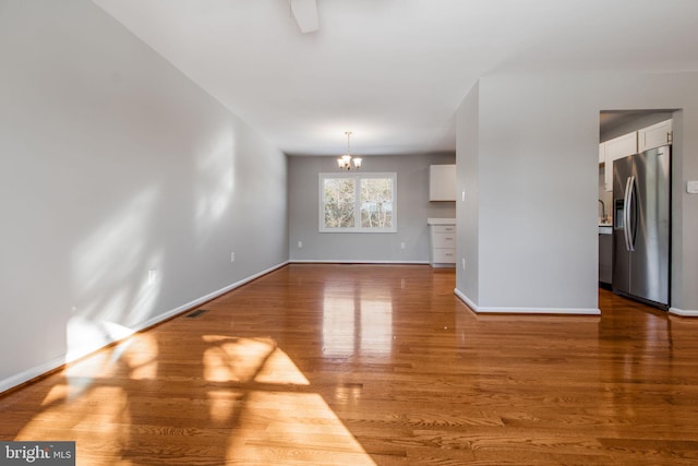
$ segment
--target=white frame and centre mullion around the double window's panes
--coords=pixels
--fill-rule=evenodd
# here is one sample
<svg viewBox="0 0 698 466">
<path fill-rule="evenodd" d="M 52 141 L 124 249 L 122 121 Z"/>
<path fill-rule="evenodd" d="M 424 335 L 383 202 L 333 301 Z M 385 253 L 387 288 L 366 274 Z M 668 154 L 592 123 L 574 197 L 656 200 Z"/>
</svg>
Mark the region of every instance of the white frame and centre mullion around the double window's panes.
<svg viewBox="0 0 698 466">
<path fill-rule="evenodd" d="M 325 226 L 325 180 L 333 178 L 350 178 L 354 183 L 353 195 L 353 227 L 340 227 L 330 228 Z M 392 226 L 389 227 L 362 227 L 361 226 L 361 180 L 364 179 L 377 179 L 387 178 L 393 183 L 393 212 L 392 212 Z M 395 171 L 382 171 L 382 172 L 322 172 L 318 176 L 318 231 L 320 232 L 397 232 L 397 172 Z"/>
</svg>

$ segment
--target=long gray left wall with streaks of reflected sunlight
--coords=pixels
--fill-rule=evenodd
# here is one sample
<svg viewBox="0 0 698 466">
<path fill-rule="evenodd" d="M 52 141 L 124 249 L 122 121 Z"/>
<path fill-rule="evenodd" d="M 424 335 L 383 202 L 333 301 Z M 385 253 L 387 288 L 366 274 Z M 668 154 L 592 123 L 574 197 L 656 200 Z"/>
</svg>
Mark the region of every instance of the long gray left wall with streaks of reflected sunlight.
<svg viewBox="0 0 698 466">
<path fill-rule="evenodd" d="M 92 2 L 0 12 L 0 391 L 288 260 L 284 154 Z"/>
</svg>

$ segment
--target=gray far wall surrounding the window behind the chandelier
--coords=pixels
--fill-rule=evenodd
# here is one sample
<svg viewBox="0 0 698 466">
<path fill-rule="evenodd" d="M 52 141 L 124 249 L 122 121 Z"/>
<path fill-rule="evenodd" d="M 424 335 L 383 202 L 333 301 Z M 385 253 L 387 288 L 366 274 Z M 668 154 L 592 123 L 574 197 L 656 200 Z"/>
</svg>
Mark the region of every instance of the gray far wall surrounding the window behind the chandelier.
<svg viewBox="0 0 698 466">
<path fill-rule="evenodd" d="M 397 232 L 321 234 L 318 177 L 321 172 L 339 172 L 337 157 L 289 157 L 291 262 L 429 262 L 426 218 L 456 216 L 455 202 L 429 201 L 429 166 L 454 164 L 455 159 L 455 154 L 364 156 L 362 172 L 397 172 Z M 298 241 L 303 242 L 302 248 Z"/>
</svg>

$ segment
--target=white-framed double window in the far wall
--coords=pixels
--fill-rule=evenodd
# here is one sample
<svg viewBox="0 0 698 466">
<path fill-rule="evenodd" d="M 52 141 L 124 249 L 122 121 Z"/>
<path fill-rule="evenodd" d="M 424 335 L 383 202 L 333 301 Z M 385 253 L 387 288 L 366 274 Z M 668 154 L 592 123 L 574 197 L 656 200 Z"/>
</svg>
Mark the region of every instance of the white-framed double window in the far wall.
<svg viewBox="0 0 698 466">
<path fill-rule="evenodd" d="M 320 174 L 320 231 L 397 231 L 396 180 L 396 174 Z"/>
</svg>

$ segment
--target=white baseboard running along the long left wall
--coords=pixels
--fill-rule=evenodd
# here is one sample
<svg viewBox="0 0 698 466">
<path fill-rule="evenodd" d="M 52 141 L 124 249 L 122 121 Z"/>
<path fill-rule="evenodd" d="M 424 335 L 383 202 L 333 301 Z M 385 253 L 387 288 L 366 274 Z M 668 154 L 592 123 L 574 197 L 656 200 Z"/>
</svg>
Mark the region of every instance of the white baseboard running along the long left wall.
<svg viewBox="0 0 698 466">
<path fill-rule="evenodd" d="M 202 296 L 201 298 L 194 299 L 193 301 L 190 301 L 190 302 L 188 302 L 185 304 L 182 304 L 182 306 L 180 306 L 180 307 L 178 307 L 176 309 L 169 310 L 169 311 L 164 312 L 164 313 L 161 313 L 159 315 L 156 315 L 155 318 L 148 319 L 147 321 L 141 322 L 141 323 L 136 324 L 133 328 L 131 328 L 132 332 L 131 332 L 130 335 L 133 335 L 134 333 L 141 332 L 141 331 L 143 331 L 143 330 L 145 330 L 147 327 L 151 327 L 151 326 L 153 326 L 153 325 L 155 325 L 157 323 L 160 323 L 163 321 L 166 321 L 168 319 L 171 319 L 171 318 L 176 316 L 177 314 L 181 314 L 181 313 L 183 313 L 183 312 L 185 312 L 185 311 L 188 311 L 188 310 L 190 310 L 192 308 L 195 308 L 195 307 L 197 307 L 200 304 L 203 304 L 206 301 L 210 301 L 212 299 L 218 298 L 219 296 L 225 295 L 226 292 L 231 291 L 231 290 L 233 290 L 236 288 L 239 288 L 242 285 L 244 285 L 244 284 L 246 284 L 249 282 L 252 282 L 253 279 L 256 279 L 256 278 L 261 277 L 262 275 L 266 275 L 269 272 L 274 272 L 275 270 L 280 268 L 280 267 L 287 265 L 288 263 L 289 263 L 289 261 L 285 261 L 285 262 L 278 264 L 278 265 L 272 266 L 272 267 L 269 267 L 269 268 L 267 268 L 265 271 L 262 271 L 262 272 L 256 273 L 254 275 L 251 275 L 251 276 L 249 276 L 246 278 L 243 278 L 240 282 L 236 282 L 236 283 L 233 283 L 231 285 L 228 285 L 228 286 L 226 286 L 224 288 L 220 288 L 219 290 L 209 292 L 208 295 L 205 295 L 205 296 Z M 80 358 L 84 358 L 85 356 L 91 355 L 93 353 L 96 353 L 96 351 L 103 349 L 104 347 L 106 347 L 108 345 L 121 342 L 121 340 L 128 338 L 130 335 L 124 336 L 124 337 L 119 338 L 119 339 L 113 339 L 113 340 L 111 340 L 111 342 L 109 342 L 107 344 L 104 344 L 104 345 L 99 345 L 98 347 L 95 347 L 92 350 L 81 351 L 81 354 L 79 354 L 79 355 L 76 355 L 76 356 L 74 356 L 74 357 L 72 357 L 70 359 L 68 358 L 68 355 L 60 356 L 60 357 L 58 357 L 56 359 L 52 359 L 52 360 L 50 360 L 48 362 L 44 362 L 44 363 L 41 363 L 39 366 L 35 366 L 35 367 L 33 367 L 31 369 L 27 369 L 25 371 L 22 371 L 22 372 L 20 372 L 17 374 L 14 374 L 12 377 L 3 379 L 3 380 L 0 381 L 0 394 L 2 394 L 3 392 L 5 392 L 5 391 L 8 391 L 8 390 L 10 390 L 10 389 L 12 389 L 14 386 L 17 386 L 17 385 L 22 384 L 24 382 L 27 382 L 27 381 L 29 381 L 32 379 L 35 379 L 35 378 L 40 377 L 40 375 L 44 375 L 44 374 L 46 374 L 46 373 L 48 373 L 48 372 L 50 372 L 52 370 L 59 369 L 63 365 L 73 362 L 73 361 L 75 361 L 75 360 L 77 360 Z"/>
</svg>

